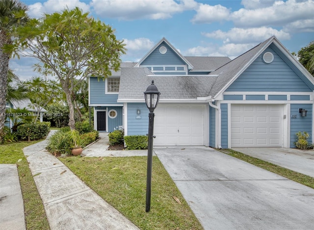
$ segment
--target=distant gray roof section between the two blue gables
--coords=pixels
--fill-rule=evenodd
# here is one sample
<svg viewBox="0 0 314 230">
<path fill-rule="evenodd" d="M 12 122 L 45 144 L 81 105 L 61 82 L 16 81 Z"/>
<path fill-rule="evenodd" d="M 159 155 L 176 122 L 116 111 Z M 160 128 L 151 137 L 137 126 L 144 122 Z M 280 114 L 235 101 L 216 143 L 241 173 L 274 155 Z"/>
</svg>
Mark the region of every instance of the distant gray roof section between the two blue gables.
<svg viewBox="0 0 314 230">
<path fill-rule="evenodd" d="M 192 70 L 213 71 L 230 62 L 229 57 L 185 57 L 193 65 Z"/>
</svg>

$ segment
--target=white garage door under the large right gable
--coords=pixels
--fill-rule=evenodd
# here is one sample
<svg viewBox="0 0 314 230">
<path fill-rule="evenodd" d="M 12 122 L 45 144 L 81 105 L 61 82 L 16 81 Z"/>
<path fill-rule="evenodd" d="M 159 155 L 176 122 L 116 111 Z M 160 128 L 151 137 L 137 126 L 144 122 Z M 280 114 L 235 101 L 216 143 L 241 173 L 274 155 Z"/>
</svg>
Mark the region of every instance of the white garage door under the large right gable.
<svg viewBox="0 0 314 230">
<path fill-rule="evenodd" d="M 232 147 L 281 147 L 280 105 L 231 105 Z"/>
</svg>

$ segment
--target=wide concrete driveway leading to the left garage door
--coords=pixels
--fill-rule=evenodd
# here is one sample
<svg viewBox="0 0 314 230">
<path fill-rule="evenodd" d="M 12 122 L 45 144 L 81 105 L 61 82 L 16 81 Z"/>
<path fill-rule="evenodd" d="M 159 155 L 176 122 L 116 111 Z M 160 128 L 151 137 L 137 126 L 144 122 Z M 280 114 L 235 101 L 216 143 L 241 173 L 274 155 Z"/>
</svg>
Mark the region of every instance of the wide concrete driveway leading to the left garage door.
<svg viewBox="0 0 314 230">
<path fill-rule="evenodd" d="M 312 188 L 209 147 L 154 151 L 205 230 L 313 229 Z"/>
</svg>

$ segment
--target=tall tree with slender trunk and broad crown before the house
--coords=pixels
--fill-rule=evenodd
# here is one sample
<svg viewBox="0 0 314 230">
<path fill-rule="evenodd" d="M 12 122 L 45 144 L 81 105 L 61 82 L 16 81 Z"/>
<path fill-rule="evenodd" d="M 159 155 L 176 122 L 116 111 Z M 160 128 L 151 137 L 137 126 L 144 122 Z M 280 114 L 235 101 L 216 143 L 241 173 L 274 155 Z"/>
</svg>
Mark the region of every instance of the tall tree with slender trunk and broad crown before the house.
<svg viewBox="0 0 314 230">
<path fill-rule="evenodd" d="M 123 41 L 114 30 L 77 7 L 62 13 L 45 14 L 33 19 L 19 35 L 28 55 L 40 61 L 36 70 L 55 76 L 66 94 L 70 110 L 69 126 L 75 128 L 73 94 L 76 86 L 88 76 L 104 78 L 118 70 Z M 77 81 L 75 81 L 75 79 Z"/>
</svg>

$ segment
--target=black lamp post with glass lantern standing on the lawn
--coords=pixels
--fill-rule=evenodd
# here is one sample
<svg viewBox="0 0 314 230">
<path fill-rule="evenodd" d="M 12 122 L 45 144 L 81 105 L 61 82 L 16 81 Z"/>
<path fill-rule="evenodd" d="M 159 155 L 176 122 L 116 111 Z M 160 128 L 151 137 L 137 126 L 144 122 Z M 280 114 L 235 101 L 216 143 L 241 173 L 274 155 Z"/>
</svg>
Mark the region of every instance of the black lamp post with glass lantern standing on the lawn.
<svg viewBox="0 0 314 230">
<path fill-rule="evenodd" d="M 146 179 L 146 212 L 151 210 L 151 190 L 152 190 L 152 160 L 153 160 L 153 135 L 154 135 L 154 110 L 159 101 L 160 92 L 152 84 L 144 92 L 146 106 L 149 109 L 149 126 L 148 126 L 148 157 L 147 157 L 147 179 Z M 154 137 L 155 138 L 155 137 Z"/>
</svg>

